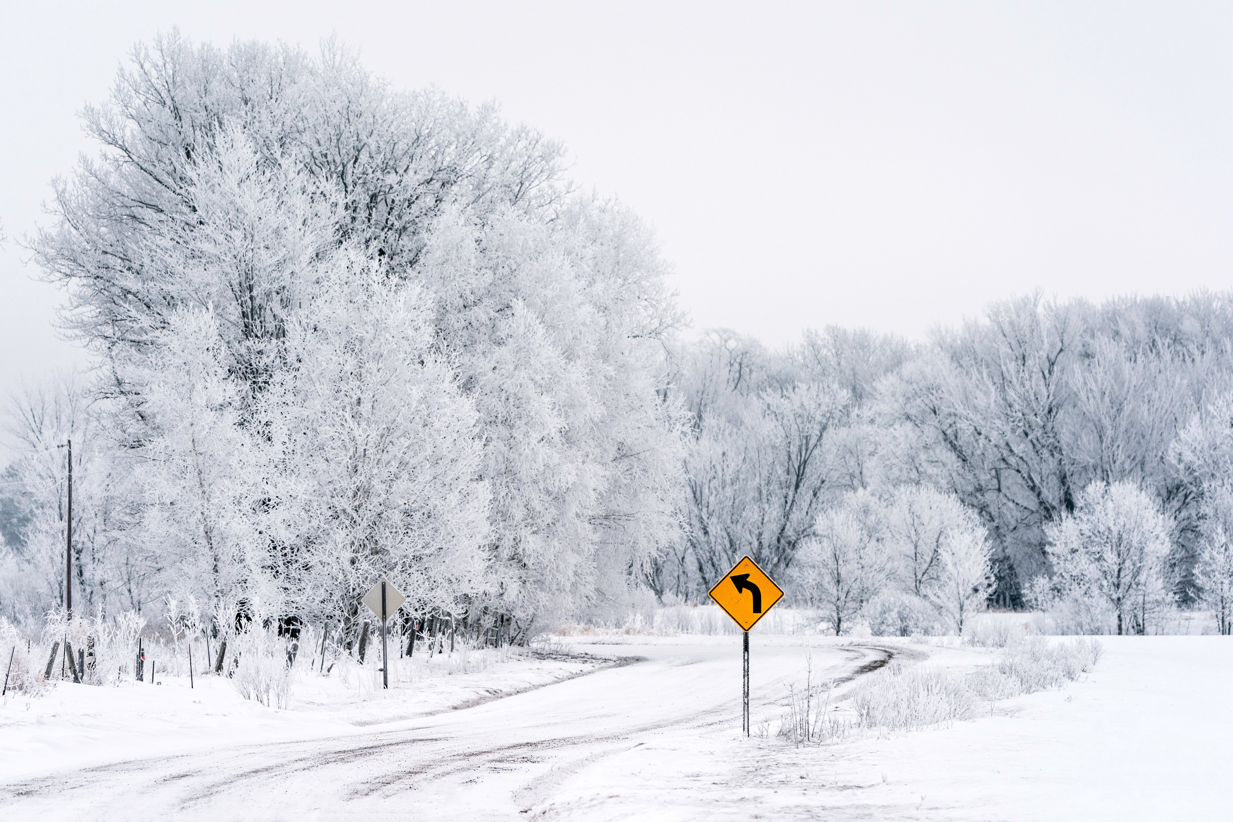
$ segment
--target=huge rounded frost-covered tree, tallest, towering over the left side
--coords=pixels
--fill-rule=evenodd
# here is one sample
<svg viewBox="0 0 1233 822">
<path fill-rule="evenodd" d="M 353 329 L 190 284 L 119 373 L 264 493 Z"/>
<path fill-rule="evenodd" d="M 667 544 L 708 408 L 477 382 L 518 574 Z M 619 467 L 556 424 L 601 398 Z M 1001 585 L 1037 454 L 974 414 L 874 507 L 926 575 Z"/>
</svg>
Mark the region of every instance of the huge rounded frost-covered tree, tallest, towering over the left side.
<svg viewBox="0 0 1233 822">
<path fill-rule="evenodd" d="M 674 539 L 683 413 L 663 383 L 679 322 L 665 266 L 628 210 L 572 192 L 557 144 L 507 126 L 491 106 L 398 92 L 333 44 L 313 58 L 178 35 L 138 47 L 85 124 L 102 150 L 58 186 L 59 219 L 36 239 L 36 256 L 68 287 L 65 325 L 107 366 L 99 389 L 129 456 L 169 449 L 189 465 L 184 430 L 144 409 L 213 394 L 173 391 L 164 382 L 175 380 L 149 366 L 162 352 L 210 351 L 229 393 L 205 407 L 226 412 L 219 424 L 245 444 L 245 465 L 219 478 L 250 494 L 237 516 L 260 534 L 245 542 L 250 561 L 233 557 L 237 584 L 307 608 L 292 593 L 306 563 L 327 567 L 313 552 L 329 543 L 335 562 L 354 560 L 332 577 L 335 590 L 351 590 L 376 562 L 359 562 L 359 546 L 388 546 L 413 527 L 398 567 L 422 583 L 423 606 L 501 611 L 525 631 L 623 601 Z M 374 320 L 393 325 L 390 306 L 406 308 L 404 345 L 361 322 L 366 301 Z M 192 317 L 212 318 L 217 339 L 189 345 Z M 380 366 L 356 375 L 340 370 L 348 362 Z M 360 425 L 327 402 L 354 392 L 388 410 L 399 391 L 411 392 L 408 413 L 423 412 L 418 424 L 404 415 L 382 430 L 370 414 Z M 425 428 L 434 408 L 440 417 Z M 318 424 L 339 433 L 353 423 L 345 441 L 386 451 L 354 460 L 306 445 L 324 442 Z M 459 447 L 450 471 L 446 444 Z M 324 527 L 324 514 L 291 515 L 308 487 L 291 455 L 317 460 L 323 500 L 335 505 L 322 510 L 354 516 L 351 532 Z M 126 465 L 141 473 L 160 461 Z M 340 504 L 332 494 L 363 486 L 332 473 L 343 466 L 372 482 L 396 466 L 422 470 L 402 490 L 436 471 L 456 483 L 439 490 L 459 508 L 443 519 L 439 497 L 416 509 L 396 500 L 401 487 L 376 486 L 366 502 Z M 434 540 L 448 545 L 429 556 Z M 450 571 L 416 577 L 455 550 Z M 469 564 L 473 550 L 482 574 Z M 395 562 L 385 548 L 374 556 Z M 222 571 L 215 583 L 229 585 Z"/>
</svg>

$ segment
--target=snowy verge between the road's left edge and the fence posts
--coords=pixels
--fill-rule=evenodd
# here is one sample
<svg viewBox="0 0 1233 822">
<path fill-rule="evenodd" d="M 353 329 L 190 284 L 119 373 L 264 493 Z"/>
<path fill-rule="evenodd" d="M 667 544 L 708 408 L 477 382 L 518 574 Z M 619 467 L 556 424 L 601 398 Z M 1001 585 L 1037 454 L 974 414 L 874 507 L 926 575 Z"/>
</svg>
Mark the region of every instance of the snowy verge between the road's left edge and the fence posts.
<svg viewBox="0 0 1233 822">
<path fill-rule="evenodd" d="M 239 746 L 355 733 L 382 722 L 476 705 L 609 664 L 607 659 L 509 649 L 460 651 L 432 663 L 396 659 L 390 690 L 369 661 L 328 677 L 297 675 L 289 710 L 243 699 L 232 683 L 199 673 L 159 674 L 158 684 L 53 682 L 48 693 L 0 701 L 0 778 Z"/>
</svg>

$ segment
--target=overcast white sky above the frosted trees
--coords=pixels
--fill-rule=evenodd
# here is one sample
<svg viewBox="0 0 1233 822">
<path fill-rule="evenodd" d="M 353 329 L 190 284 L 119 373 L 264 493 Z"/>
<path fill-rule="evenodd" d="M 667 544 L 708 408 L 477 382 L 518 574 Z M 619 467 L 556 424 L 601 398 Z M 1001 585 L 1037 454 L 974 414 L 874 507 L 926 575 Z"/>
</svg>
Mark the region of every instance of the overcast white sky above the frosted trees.
<svg viewBox="0 0 1233 822">
<path fill-rule="evenodd" d="M 81 362 L 15 242 L 133 42 L 335 32 L 563 140 L 657 229 L 695 328 L 922 338 L 1042 288 L 1224 288 L 1233 5 L 0 2 L 0 391 Z"/>
</svg>

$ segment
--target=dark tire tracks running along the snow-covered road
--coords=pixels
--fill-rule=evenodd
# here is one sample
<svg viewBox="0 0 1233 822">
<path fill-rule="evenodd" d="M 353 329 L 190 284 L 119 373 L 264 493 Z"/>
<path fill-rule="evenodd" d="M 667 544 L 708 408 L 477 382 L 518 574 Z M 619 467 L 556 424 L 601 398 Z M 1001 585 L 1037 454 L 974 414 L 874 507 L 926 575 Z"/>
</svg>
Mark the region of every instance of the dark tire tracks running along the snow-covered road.
<svg viewBox="0 0 1233 822">
<path fill-rule="evenodd" d="M 853 682 L 903 653 L 900 648 L 874 645 L 834 649 L 854 657 L 847 664 L 859 662 L 837 677 L 836 684 Z M 870 659 L 869 652 L 875 657 Z M 636 663 L 626 658 L 614 664 Z M 762 690 L 782 684 L 783 679 L 773 680 Z M 778 701 L 761 696 L 755 704 L 766 709 Z M 450 714 L 461 717 L 465 710 Z M 736 721 L 739 710 L 739 701 L 735 710 L 711 705 L 651 722 L 634 721 L 607 733 L 568 733 L 497 746 L 476 744 L 478 739 L 473 735 L 471 738 L 440 736 L 443 728 L 429 725 L 364 736 L 250 744 L 41 776 L 0 785 L 0 796 L 18 801 L 63 797 L 74 805 L 76 813 L 89 818 L 91 810 L 126 816 L 133 796 L 141 796 L 142 806 L 152 812 L 154 808 L 192 812 L 207 808 L 227 794 L 253 796 L 258 791 L 269 792 L 269 789 L 287 789 L 292 781 L 307 779 L 313 787 L 339 789 L 335 795 L 345 804 L 417 791 L 467 773 L 477 774 L 467 783 L 478 783 L 483 775 L 499 770 L 543 769 L 544 773 L 528 774 L 530 779 L 513 791 L 512 799 L 528 807 L 575 774 L 637 747 L 636 737 L 673 728 L 693 731 L 730 725 Z M 562 757 L 563 752 L 573 755 Z M 258 757 L 260 764 L 253 763 Z"/>
</svg>

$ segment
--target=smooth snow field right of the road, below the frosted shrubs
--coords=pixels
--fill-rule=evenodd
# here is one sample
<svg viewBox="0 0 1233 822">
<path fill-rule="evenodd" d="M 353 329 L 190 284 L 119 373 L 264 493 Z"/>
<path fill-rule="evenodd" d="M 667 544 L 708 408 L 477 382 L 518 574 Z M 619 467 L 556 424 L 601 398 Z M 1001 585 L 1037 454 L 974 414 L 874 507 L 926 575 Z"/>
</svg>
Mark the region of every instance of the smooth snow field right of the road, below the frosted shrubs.
<svg viewBox="0 0 1233 822">
<path fill-rule="evenodd" d="M 578 775 L 540 811 L 594 821 L 1226 818 L 1233 643 L 1101 642 L 1091 674 L 993 704 L 993 716 L 800 748 L 732 728 L 677 735 Z M 979 654 L 926 649 L 932 664 L 957 669 Z"/>
</svg>

